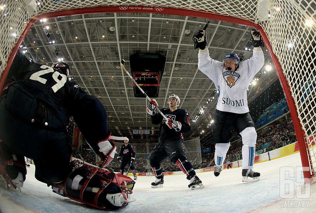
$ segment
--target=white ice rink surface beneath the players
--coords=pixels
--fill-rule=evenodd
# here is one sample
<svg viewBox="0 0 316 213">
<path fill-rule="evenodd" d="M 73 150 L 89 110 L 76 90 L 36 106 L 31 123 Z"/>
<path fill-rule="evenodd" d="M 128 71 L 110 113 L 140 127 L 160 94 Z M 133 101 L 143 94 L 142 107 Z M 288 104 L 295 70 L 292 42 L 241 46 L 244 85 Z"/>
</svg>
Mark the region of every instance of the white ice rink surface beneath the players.
<svg viewBox="0 0 316 213">
<path fill-rule="evenodd" d="M 138 177 L 132 194 L 136 201 L 108 212 L 315 212 L 316 183 L 310 185 L 307 199 L 296 198 L 296 194 L 290 199 L 280 198 L 280 168 L 284 166 L 293 167 L 299 177 L 301 174 L 296 167 L 302 166 L 300 154 L 255 164 L 254 170 L 261 173 L 261 178 L 251 183 L 241 181 L 241 168 L 225 169 L 219 177 L 213 172 L 197 173 L 205 186 L 199 190 L 188 188 L 185 175 L 165 176 L 162 188 L 150 187 L 155 177 Z M 0 188 L 2 213 L 101 212 L 53 193 L 50 187 L 35 179 L 34 170 L 34 165 L 27 168 L 21 193 Z M 294 180 L 290 181 L 295 183 L 293 188 L 301 190 L 301 186 L 304 187 L 295 177 L 289 179 Z M 284 203 L 289 206 L 291 202 L 310 207 L 283 207 Z"/>
</svg>

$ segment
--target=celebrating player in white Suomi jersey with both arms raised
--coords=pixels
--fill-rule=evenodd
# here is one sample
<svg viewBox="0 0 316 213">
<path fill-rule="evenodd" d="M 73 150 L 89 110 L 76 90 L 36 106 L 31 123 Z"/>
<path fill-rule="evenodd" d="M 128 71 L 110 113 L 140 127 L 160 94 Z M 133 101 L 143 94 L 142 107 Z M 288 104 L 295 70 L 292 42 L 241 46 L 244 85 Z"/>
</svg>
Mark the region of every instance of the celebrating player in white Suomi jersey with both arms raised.
<svg viewBox="0 0 316 213">
<path fill-rule="evenodd" d="M 205 30 L 193 35 L 195 47 L 199 47 L 198 68 L 215 84 L 218 101 L 214 115 L 213 143 L 215 143 L 215 170 L 219 176 L 228 151 L 231 130 L 234 128 L 242 137 L 242 181 L 258 181 L 260 173 L 253 171 L 257 132 L 249 114 L 247 88 L 252 78 L 264 65 L 261 47 L 264 43 L 258 31 L 251 30 L 252 58 L 240 62 L 237 54 L 225 55 L 222 62 L 210 58 L 206 47 Z"/>
</svg>

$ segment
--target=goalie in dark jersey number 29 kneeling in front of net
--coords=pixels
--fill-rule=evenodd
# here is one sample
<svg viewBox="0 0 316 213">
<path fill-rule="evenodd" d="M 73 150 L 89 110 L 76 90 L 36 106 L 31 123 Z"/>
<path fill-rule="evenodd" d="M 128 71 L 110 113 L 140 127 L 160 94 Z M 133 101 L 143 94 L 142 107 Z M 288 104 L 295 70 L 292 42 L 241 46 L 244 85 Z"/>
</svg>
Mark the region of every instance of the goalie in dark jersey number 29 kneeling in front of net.
<svg viewBox="0 0 316 213">
<path fill-rule="evenodd" d="M 35 178 L 54 192 L 95 208 L 118 209 L 134 201 L 135 182 L 103 169 L 116 150 L 106 110 L 69 81 L 69 72 L 64 62 L 49 67 L 17 52 L 0 98 L 0 183 L 21 190 L 26 156 L 34 162 Z M 71 160 L 70 116 L 100 156 L 100 168 Z"/>
</svg>

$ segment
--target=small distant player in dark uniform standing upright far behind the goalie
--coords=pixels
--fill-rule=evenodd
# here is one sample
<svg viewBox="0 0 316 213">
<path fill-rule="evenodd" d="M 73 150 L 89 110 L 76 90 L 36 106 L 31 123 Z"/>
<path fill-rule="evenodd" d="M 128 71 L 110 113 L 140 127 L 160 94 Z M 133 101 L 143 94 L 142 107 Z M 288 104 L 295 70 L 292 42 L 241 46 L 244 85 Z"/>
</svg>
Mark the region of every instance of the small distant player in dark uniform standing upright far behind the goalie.
<svg viewBox="0 0 316 213">
<path fill-rule="evenodd" d="M 135 165 L 134 160 L 136 156 L 136 152 L 131 144 L 128 144 L 129 139 L 126 137 L 124 140 L 124 144 L 121 146 L 119 150 L 119 156 L 117 157 L 118 161 L 121 162 L 120 173 L 124 173 L 125 166 L 128 165 L 133 172 L 134 180 L 137 180 L 136 172 L 135 172 Z"/>
</svg>

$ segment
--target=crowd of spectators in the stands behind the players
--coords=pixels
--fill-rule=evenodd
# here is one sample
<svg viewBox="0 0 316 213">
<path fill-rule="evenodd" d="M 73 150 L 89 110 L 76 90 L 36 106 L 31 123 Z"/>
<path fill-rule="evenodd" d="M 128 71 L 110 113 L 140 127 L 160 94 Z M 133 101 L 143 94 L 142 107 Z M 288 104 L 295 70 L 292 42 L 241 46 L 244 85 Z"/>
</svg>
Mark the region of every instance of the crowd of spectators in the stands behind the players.
<svg viewBox="0 0 316 213">
<path fill-rule="evenodd" d="M 293 122 L 292 119 L 289 118 L 280 123 L 264 128 L 263 133 L 261 134 L 258 133 L 256 151 L 258 154 L 261 154 L 264 152 L 268 152 L 270 150 L 278 149 L 282 146 L 294 143 L 296 141 L 297 139 L 295 135 Z M 230 160 L 231 162 L 241 160 L 241 148 L 241 140 L 239 142 L 237 141 L 236 143 L 232 143 L 227 152 L 226 160 Z M 147 149 L 149 148 L 147 148 L 146 144 L 144 144 L 143 146 L 142 144 L 137 144 L 137 147 L 135 147 L 135 149 L 138 153 L 146 153 Z M 116 160 L 117 156 L 118 155 L 116 154 L 114 160 L 112 160 L 107 169 L 119 172 L 120 162 Z M 188 156 L 190 156 L 188 160 L 192 163 L 194 169 L 201 169 L 214 166 L 214 152 L 202 154 L 202 163 L 199 163 L 200 161 L 198 154 L 189 153 Z M 80 158 L 85 162 L 94 165 L 96 162 L 95 154 L 92 152 L 78 153 L 74 150 L 73 157 Z M 135 167 L 137 172 L 151 172 L 149 160 L 145 158 L 145 154 L 139 154 L 136 158 Z M 163 167 L 163 171 L 180 171 L 179 167 L 174 165 L 169 159 L 163 161 L 161 163 L 161 166 Z M 126 170 L 127 169 L 125 169 L 125 172 Z"/>
</svg>

